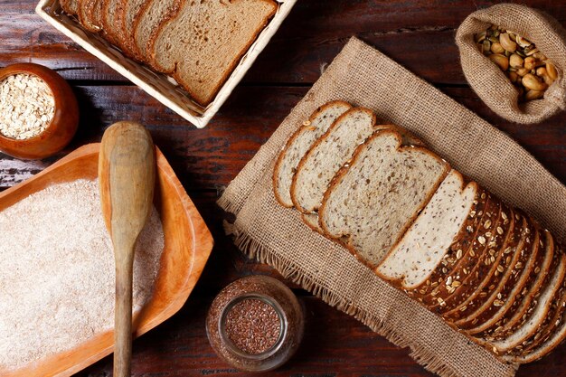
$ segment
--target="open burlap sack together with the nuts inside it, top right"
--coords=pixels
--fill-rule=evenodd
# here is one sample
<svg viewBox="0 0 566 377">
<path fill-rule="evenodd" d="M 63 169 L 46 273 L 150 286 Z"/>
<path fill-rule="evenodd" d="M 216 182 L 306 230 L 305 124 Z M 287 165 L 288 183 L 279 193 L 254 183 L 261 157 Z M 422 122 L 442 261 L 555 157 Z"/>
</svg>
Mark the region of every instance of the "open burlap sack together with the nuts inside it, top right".
<svg viewBox="0 0 566 377">
<path fill-rule="evenodd" d="M 470 87 L 497 115 L 531 124 L 566 108 L 566 31 L 550 15 L 515 4 L 469 14 L 456 44 Z"/>
</svg>

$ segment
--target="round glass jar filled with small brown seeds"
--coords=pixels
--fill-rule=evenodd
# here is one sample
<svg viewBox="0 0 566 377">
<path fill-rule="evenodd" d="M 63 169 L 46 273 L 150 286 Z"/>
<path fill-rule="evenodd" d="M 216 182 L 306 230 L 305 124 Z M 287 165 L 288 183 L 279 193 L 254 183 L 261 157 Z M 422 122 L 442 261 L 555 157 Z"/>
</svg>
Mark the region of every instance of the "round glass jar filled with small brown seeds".
<svg viewBox="0 0 566 377">
<path fill-rule="evenodd" d="M 305 316 L 293 292 L 276 278 L 241 278 L 222 289 L 206 318 L 206 334 L 222 359 L 247 372 L 286 363 L 303 338 Z"/>
</svg>

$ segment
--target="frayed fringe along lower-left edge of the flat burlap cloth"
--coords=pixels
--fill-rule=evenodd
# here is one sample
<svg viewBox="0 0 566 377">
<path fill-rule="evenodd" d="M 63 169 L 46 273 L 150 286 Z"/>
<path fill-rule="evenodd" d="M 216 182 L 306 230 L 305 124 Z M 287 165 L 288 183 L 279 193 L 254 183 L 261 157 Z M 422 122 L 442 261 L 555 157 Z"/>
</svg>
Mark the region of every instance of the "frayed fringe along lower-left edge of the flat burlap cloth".
<svg viewBox="0 0 566 377">
<path fill-rule="evenodd" d="M 221 200 L 222 201 L 222 200 Z M 219 201 L 219 205 L 222 204 Z M 231 205 L 226 201 L 225 211 L 230 212 Z M 228 221 L 223 221 L 224 231 L 227 235 L 232 237 L 236 247 L 241 250 L 248 258 L 256 259 L 260 263 L 266 263 L 269 266 L 277 269 L 278 272 L 288 280 L 303 287 L 315 297 L 323 300 L 327 305 L 335 307 L 336 309 L 344 312 L 349 316 L 354 316 L 355 319 L 367 325 L 373 332 L 383 336 L 392 344 L 401 348 L 410 349 L 410 357 L 419 363 L 423 368 L 429 372 L 439 374 L 442 377 L 461 377 L 458 371 L 450 368 L 439 356 L 430 353 L 424 349 L 416 349 L 411 345 L 410 338 L 401 335 L 395 327 L 387 325 L 379 318 L 372 316 L 362 309 L 352 306 L 347 298 L 340 297 L 334 292 L 329 291 L 325 287 L 318 285 L 313 279 L 308 278 L 307 275 L 302 274 L 300 269 L 287 259 L 281 259 L 274 253 L 269 252 L 258 241 L 254 240 L 245 231 L 239 230 L 238 226 L 231 224 Z M 514 370 L 510 371 L 505 376 L 501 377 L 514 377 L 515 372 L 518 370 L 518 365 L 513 365 Z"/>
</svg>

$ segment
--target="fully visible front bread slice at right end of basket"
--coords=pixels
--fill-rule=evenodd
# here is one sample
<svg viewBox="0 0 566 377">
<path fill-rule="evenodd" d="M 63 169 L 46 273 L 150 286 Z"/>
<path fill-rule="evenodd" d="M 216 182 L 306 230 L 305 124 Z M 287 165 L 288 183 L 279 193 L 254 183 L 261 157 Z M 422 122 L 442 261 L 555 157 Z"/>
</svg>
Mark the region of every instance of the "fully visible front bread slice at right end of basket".
<svg viewBox="0 0 566 377">
<path fill-rule="evenodd" d="M 273 0 L 184 0 L 152 36 L 151 63 L 207 106 L 277 9 Z"/>
</svg>

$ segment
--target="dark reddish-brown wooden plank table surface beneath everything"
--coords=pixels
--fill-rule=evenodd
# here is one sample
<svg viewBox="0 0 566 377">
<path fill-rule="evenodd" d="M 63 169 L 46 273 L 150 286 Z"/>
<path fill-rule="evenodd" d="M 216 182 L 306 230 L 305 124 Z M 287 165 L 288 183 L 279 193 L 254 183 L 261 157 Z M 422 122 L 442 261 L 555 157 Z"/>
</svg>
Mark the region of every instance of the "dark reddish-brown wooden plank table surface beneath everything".
<svg viewBox="0 0 566 377">
<path fill-rule="evenodd" d="M 518 126 L 486 108 L 469 89 L 454 36 L 458 24 L 485 1 L 300 0 L 248 75 L 205 129 L 196 129 L 139 90 L 34 14 L 35 0 L 0 1 L 0 65 L 44 64 L 70 81 L 80 100 L 80 131 L 71 146 L 46 161 L 0 154 L 0 190 L 42 170 L 77 146 L 97 142 L 106 127 L 137 120 L 150 130 L 184 184 L 216 245 L 184 308 L 134 343 L 135 376 L 243 376 L 213 353 L 204 331 L 212 298 L 232 280 L 278 274 L 246 259 L 222 231 L 215 206 L 222 188 L 241 171 L 344 43 L 357 35 L 439 90 L 475 111 L 524 146 L 566 182 L 566 113 L 540 125 Z M 523 3 L 523 2 L 522 2 Z M 528 1 L 566 25 L 566 2 Z M 291 285 L 292 286 L 292 285 Z M 297 355 L 272 376 L 428 376 L 406 349 L 390 344 L 353 318 L 292 286 L 306 303 L 307 334 Z M 519 376 L 564 376 L 566 344 Z M 112 373 L 110 357 L 77 375 Z"/>
</svg>

